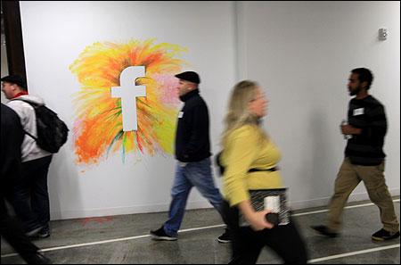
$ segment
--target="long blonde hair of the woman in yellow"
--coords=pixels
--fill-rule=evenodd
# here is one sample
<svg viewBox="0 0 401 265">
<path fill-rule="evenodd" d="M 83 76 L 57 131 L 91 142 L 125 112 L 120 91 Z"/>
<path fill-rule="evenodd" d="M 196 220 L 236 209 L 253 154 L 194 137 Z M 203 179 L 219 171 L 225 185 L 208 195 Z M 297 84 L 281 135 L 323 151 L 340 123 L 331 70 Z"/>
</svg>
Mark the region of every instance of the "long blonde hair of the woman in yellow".
<svg viewBox="0 0 401 265">
<path fill-rule="evenodd" d="M 244 125 L 255 126 L 260 132 L 260 140 L 267 139 L 264 130 L 258 126 L 259 118 L 249 111 L 249 104 L 257 97 L 257 93 L 258 83 L 255 81 L 243 80 L 233 87 L 225 114 L 225 129 L 221 141 L 223 146 L 233 130 Z"/>
</svg>

